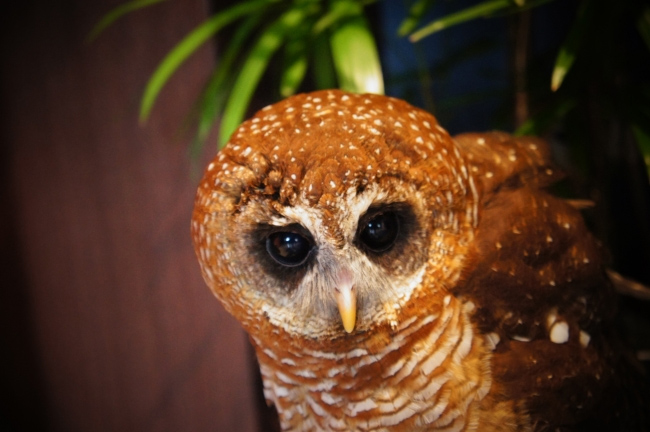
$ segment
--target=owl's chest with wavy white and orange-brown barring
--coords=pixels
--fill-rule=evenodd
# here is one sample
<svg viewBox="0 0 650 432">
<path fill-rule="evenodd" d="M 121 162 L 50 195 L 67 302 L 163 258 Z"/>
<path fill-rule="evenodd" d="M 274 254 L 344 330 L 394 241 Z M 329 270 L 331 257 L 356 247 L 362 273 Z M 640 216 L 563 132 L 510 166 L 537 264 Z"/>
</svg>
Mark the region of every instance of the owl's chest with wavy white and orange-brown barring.
<svg viewBox="0 0 650 432">
<path fill-rule="evenodd" d="M 402 321 L 383 344 L 336 352 L 258 345 L 265 396 L 283 429 L 474 430 L 491 386 L 489 351 L 466 308 L 452 303 Z"/>
</svg>

